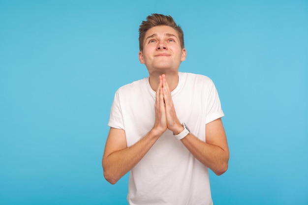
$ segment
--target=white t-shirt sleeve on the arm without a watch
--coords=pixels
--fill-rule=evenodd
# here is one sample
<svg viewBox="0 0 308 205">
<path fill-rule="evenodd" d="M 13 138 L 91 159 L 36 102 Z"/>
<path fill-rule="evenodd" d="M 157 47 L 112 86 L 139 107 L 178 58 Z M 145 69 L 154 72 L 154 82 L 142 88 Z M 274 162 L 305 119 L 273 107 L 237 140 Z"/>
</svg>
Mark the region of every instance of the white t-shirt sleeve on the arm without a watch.
<svg viewBox="0 0 308 205">
<path fill-rule="evenodd" d="M 108 126 L 117 129 L 124 129 L 119 90 L 116 92 L 115 98 L 111 106 Z"/>
</svg>

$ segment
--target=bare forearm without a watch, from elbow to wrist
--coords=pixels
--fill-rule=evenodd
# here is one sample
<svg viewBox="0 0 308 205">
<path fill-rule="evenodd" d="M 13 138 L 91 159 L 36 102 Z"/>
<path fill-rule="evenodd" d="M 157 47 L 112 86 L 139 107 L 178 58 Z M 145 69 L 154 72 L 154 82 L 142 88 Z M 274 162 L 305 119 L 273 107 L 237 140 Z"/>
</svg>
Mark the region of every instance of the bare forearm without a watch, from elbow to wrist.
<svg viewBox="0 0 308 205">
<path fill-rule="evenodd" d="M 159 137 L 157 132 L 151 130 L 136 144 L 114 151 L 107 156 L 104 154 L 102 165 L 106 180 L 115 184 L 146 155 Z"/>
</svg>

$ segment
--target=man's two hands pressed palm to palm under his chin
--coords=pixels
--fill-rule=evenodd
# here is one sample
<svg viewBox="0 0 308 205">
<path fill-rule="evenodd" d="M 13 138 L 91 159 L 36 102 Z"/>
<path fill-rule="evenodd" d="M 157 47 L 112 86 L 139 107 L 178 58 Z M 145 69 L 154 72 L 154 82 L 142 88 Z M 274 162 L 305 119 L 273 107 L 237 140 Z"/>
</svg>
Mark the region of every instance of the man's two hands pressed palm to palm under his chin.
<svg viewBox="0 0 308 205">
<path fill-rule="evenodd" d="M 154 128 L 159 132 L 159 135 L 162 135 L 162 133 L 167 129 L 171 130 L 174 134 L 179 134 L 184 130 L 184 127 L 177 118 L 171 97 L 171 91 L 164 74 L 159 76 L 159 85 L 156 89 L 154 107 Z"/>
</svg>

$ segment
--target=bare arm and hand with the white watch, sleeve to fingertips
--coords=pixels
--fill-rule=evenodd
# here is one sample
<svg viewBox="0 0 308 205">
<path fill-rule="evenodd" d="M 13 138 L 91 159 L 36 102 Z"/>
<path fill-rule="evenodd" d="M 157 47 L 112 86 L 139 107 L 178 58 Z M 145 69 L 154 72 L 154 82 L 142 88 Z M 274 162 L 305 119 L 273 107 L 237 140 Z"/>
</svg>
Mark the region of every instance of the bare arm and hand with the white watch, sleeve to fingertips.
<svg viewBox="0 0 308 205">
<path fill-rule="evenodd" d="M 168 84 L 163 76 L 163 94 L 167 117 L 167 126 L 175 134 L 184 127 L 176 116 Z M 228 169 L 229 149 L 221 118 L 206 124 L 206 142 L 188 134 L 182 143 L 202 164 L 209 167 L 216 175 L 222 175 Z"/>
</svg>

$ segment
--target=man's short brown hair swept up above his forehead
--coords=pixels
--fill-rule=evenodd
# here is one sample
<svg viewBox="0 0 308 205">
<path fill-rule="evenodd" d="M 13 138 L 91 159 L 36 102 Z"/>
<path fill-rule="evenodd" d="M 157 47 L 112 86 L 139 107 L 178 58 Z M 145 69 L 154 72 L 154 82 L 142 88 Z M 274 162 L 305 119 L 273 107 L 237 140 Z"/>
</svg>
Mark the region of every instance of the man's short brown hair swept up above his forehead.
<svg viewBox="0 0 308 205">
<path fill-rule="evenodd" d="M 162 14 L 152 14 L 147 17 L 146 21 L 142 21 L 139 27 L 139 50 L 143 51 L 143 40 L 146 32 L 156 26 L 169 26 L 178 32 L 181 47 L 184 48 L 184 32 L 182 28 L 175 23 L 171 16 L 165 16 Z"/>
</svg>

